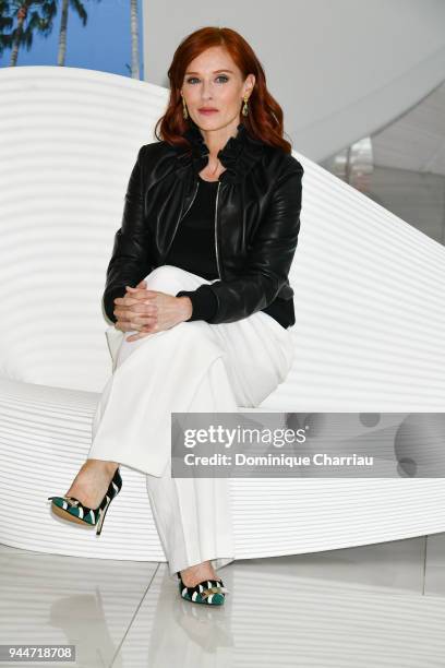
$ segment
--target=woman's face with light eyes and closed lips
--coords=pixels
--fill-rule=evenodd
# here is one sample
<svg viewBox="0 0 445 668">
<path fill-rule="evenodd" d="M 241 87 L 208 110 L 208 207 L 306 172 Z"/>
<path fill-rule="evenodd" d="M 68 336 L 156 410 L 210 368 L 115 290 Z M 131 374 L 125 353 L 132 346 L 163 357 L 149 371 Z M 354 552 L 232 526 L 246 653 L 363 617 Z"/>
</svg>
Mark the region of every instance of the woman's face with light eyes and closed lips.
<svg viewBox="0 0 445 668">
<path fill-rule="evenodd" d="M 245 81 L 229 53 L 222 47 L 212 47 L 189 63 L 182 84 L 182 95 L 189 116 L 202 130 L 237 128 L 244 95 L 255 84 L 254 74 Z M 203 108 L 216 109 L 205 114 Z"/>
</svg>

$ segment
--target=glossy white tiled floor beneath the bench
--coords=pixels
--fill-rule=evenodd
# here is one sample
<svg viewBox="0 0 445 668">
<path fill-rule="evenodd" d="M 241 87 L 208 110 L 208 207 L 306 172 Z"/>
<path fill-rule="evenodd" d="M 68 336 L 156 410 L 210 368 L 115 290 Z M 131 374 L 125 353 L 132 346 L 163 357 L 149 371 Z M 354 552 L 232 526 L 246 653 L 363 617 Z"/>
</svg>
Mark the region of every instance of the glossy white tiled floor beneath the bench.
<svg viewBox="0 0 445 668">
<path fill-rule="evenodd" d="M 219 574 L 230 593 L 211 608 L 182 600 L 165 563 L 0 546 L 0 644 L 75 644 L 60 665 L 84 668 L 445 666 L 445 534 Z"/>
</svg>

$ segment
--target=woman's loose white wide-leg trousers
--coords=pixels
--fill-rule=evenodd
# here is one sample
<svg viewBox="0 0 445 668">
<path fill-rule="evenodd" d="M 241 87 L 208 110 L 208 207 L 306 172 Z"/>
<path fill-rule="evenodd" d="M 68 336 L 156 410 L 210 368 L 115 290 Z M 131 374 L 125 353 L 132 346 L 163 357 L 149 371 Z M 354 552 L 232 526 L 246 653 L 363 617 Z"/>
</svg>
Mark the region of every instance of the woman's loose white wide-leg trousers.
<svg viewBox="0 0 445 668">
<path fill-rule="evenodd" d="M 163 265 L 147 289 L 176 295 L 206 281 Z M 93 420 L 88 458 L 146 474 L 147 493 L 170 576 L 209 560 L 234 560 L 227 478 L 171 477 L 171 413 L 237 413 L 258 406 L 282 382 L 293 359 L 292 335 L 270 315 L 237 322 L 181 322 L 134 342 L 107 329 L 113 373 Z"/>
</svg>

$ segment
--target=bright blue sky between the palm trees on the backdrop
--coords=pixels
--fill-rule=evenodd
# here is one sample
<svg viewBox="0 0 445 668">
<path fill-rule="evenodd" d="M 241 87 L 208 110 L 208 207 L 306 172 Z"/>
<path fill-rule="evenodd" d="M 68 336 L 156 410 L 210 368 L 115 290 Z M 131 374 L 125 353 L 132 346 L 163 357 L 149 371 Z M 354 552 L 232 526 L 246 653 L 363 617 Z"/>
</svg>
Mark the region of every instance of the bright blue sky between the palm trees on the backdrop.
<svg viewBox="0 0 445 668">
<path fill-rule="evenodd" d="M 137 5 L 140 76 L 144 79 L 141 0 Z M 130 76 L 130 0 L 100 0 L 100 2 L 84 0 L 84 7 L 88 14 L 85 27 L 71 8 L 69 11 L 65 67 L 100 70 Z M 48 37 L 35 33 L 31 50 L 27 51 L 25 47 L 21 47 L 16 67 L 57 67 L 60 19 L 59 10 L 52 33 Z M 10 58 L 11 51 L 8 49 L 0 56 L 0 67 L 8 67 Z"/>
</svg>

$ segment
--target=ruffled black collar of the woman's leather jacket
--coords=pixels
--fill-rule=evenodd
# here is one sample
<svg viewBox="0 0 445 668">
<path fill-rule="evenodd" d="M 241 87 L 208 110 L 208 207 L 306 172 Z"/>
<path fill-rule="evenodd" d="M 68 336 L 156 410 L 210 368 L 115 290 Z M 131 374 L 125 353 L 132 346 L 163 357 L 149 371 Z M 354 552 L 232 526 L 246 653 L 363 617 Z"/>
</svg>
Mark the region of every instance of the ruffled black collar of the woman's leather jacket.
<svg viewBox="0 0 445 668">
<path fill-rule="evenodd" d="M 178 156 L 179 170 L 192 167 L 195 175 L 204 169 L 208 163 L 208 147 L 200 128 L 191 121 L 191 127 L 182 133 L 190 145 L 190 150 L 181 150 Z M 237 126 L 236 136 L 230 136 L 226 145 L 219 150 L 217 157 L 226 167 L 219 177 L 220 181 L 240 182 L 253 167 L 263 153 L 264 143 L 253 138 L 243 123 Z"/>
</svg>

